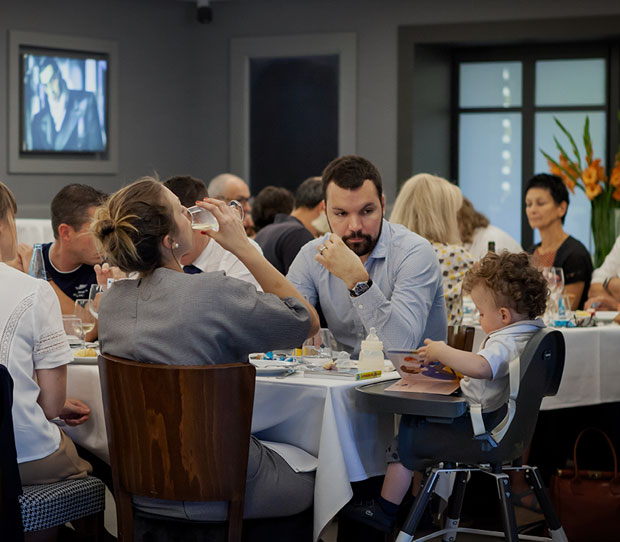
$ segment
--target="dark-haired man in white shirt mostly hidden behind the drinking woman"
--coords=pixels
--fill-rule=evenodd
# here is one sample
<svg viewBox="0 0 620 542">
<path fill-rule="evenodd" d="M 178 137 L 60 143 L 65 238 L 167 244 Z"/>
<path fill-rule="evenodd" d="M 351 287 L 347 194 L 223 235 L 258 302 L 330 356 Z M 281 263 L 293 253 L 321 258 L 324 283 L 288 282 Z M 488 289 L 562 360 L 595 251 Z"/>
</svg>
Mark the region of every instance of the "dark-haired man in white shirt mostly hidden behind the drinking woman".
<svg viewBox="0 0 620 542">
<path fill-rule="evenodd" d="M 170 177 L 164 182 L 164 186 L 173 192 L 181 201 L 181 205 L 185 207 L 191 207 L 207 196 L 205 183 L 189 175 Z M 181 257 L 185 273 L 224 271 L 229 277 L 249 282 L 262 292 L 252 273 L 232 252 L 228 252 L 219 243 L 211 241 L 208 235 L 203 235 L 199 231 L 193 232 L 193 240 L 192 250 Z M 254 241 L 250 240 L 250 242 L 260 251 Z"/>
</svg>

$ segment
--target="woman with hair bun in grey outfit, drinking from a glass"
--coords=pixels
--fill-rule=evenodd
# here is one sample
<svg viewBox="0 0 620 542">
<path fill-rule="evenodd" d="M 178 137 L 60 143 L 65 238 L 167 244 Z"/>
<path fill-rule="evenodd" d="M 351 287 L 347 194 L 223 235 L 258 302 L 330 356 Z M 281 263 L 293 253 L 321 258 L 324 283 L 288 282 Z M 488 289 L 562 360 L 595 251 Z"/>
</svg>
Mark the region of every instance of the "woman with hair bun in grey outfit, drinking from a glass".
<svg viewBox="0 0 620 542">
<path fill-rule="evenodd" d="M 292 348 L 318 331 L 314 308 L 250 244 L 235 211 L 215 199 L 198 205 L 219 223 L 206 234 L 243 262 L 264 293 L 223 272 L 183 273 L 181 257 L 192 248 L 189 213 L 161 183 L 142 178 L 112 194 L 92 225 L 108 261 L 138 274 L 102 297 L 102 352 L 145 363 L 247 362 L 250 352 Z M 314 475 L 294 472 L 254 437 L 247 480 L 245 517 L 289 516 L 312 504 Z M 219 519 L 213 503 L 136 504 L 160 515 Z"/>
</svg>

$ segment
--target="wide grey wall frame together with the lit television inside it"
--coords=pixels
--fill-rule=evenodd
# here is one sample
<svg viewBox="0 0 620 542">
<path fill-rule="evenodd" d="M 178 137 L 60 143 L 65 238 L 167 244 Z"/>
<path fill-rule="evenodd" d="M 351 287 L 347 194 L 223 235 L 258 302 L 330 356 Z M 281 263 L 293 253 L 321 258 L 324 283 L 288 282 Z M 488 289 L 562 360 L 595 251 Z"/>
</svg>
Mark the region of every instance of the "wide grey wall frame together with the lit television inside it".
<svg viewBox="0 0 620 542">
<path fill-rule="evenodd" d="M 12 31 L 9 171 L 118 171 L 116 44 Z"/>
</svg>

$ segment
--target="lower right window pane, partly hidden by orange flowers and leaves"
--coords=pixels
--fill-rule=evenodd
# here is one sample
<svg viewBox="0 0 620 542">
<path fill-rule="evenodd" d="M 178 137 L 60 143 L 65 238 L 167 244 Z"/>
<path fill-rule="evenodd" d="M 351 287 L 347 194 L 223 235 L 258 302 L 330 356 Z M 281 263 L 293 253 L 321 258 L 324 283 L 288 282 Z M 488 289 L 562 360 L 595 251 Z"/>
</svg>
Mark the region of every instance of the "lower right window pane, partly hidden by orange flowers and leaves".
<svg viewBox="0 0 620 542">
<path fill-rule="evenodd" d="M 592 138 L 592 148 L 594 149 L 594 158 L 601 158 L 602 164 L 605 165 L 606 155 L 606 139 L 605 139 L 605 123 L 606 115 L 602 112 L 549 112 L 537 113 L 535 115 L 535 135 L 534 148 L 536 154 L 534 156 L 534 171 L 537 173 L 548 173 L 549 167 L 546 158 L 540 152 L 544 150 L 553 158 L 559 156 L 553 137 L 555 136 L 564 150 L 569 153 L 571 159 L 574 158 L 571 145 L 566 136 L 556 125 L 553 117 L 564 125 L 564 127 L 573 136 L 575 143 L 579 149 L 581 156 L 581 165 L 585 166 L 585 148 L 583 145 L 583 126 L 586 115 L 590 118 L 590 137 Z M 564 221 L 564 230 L 579 239 L 588 250 L 592 251 L 593 244 L 590 240 L 590 200 L 579 188 L 575 188 L 574 194 L 569 194 L 569 206 Z M 538 231 L 534 234 L 535 242 L 540 242 Z"/>
</svg>

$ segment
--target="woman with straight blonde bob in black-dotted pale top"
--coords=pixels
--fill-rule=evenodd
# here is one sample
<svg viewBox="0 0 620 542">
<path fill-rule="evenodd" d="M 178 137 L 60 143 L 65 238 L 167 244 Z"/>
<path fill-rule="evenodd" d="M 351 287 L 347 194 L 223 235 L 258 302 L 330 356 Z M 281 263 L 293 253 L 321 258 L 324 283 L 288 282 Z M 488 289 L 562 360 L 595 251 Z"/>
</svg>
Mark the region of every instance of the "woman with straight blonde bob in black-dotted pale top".
<svg viewBox="0 0 620 542">
<path fill-rule="evenodd" d="M 403 184 L 390 216 L 390 222 L 402 224 L 433 245 L 443 275 L 448 325 L 461 324 L 463 277 L 474 263 L 459 234 L 456 216 L 462 204 L 463 195 L 456 185 L 420 173 Z"/>
</svg>

